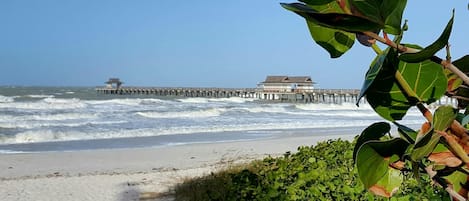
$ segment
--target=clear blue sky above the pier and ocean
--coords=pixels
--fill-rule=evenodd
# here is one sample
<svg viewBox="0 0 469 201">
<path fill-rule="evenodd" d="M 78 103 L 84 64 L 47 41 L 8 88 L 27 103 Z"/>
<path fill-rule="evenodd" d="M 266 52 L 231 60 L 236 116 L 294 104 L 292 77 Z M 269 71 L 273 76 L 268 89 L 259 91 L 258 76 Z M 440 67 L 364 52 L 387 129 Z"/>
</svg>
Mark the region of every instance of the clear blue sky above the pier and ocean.
<svg viewBox="0 0 469 201">
<path fill-rule="evenodd" d="M 293 1 L 2 0 L 0 86 L 243 88 L 288 75 L 361 88 L 374 52 L 356 42 L 331 59 L 280 2 Z M 408 0 L 403 42 L 431 44 L 453 8 L 451 54 L 468 54 L 466 0 Z"/>
</svg>

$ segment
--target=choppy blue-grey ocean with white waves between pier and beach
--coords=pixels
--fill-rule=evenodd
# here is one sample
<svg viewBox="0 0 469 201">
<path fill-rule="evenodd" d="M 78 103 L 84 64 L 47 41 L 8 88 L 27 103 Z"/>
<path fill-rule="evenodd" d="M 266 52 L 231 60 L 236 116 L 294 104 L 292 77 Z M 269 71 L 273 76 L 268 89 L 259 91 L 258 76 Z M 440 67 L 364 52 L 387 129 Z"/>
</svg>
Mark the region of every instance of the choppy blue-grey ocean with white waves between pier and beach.
<svg viewBox="0 0 469 201">
<path fill-rule="evenodd" d="M 358 135 L 383 121 L 366 103 L 122 96 L 88 87 L 0 87 L 0 153 Z M 416 110 L 406 125 L 423 122 Z"/>
</svg>

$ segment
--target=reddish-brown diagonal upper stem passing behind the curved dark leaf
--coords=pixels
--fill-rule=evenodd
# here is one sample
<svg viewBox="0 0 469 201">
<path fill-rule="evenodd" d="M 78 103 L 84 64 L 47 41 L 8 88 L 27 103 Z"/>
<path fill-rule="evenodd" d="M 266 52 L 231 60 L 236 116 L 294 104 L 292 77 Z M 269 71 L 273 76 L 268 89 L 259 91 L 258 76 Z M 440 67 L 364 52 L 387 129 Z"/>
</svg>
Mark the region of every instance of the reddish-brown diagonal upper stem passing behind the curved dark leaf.
<svg viewBox="0 0 469 201">
<path fill-rule="evenodd" d="M 416 52 L 419 52 L 420 50 L 418 49 L 415 49 L 415 48 L 410 48 L 410 47 L 406 47 L 404 45 L 398 45 L 396 43 L 394 43 L 393 41 L 391 40 L 386 40 L 385 38 L 379 36 L 378 34 L 376 33 L 373 33 L 371 31 L 367 31 L 367 32 L 363 32 L 364 35 L 367 35 L 371 38 L 374 38 L 376 39 L 377 41 L 383 43 L 383 44 L 386 44 L 394 49 L 397 49 L 399 52 L 403 52 L 403 53 L 416 53 Z M 469 85 L 469 77 L 463 73 L 461 70 L 459 70 L 456 66 L 454 66 L 451 61 L 448 61 L 448 60 L 443 60 L 443 59 L 440 59 L 438 57 L 435 56 L 436 61 L 438 61 L 437 63 L 441 64 L 443 67 L 447 68 L 448 70 L 450 70 L 451 72 L 453 72 L 454 74 L 456 74 L 459 78 L 461 78 L 463 80 L 464 83 L 466 83 L 467 85 Z M 434 61 L 432 60 L 432 61 Z M 436 62 L 435 61 L 435 62 Z"/>
</svg>

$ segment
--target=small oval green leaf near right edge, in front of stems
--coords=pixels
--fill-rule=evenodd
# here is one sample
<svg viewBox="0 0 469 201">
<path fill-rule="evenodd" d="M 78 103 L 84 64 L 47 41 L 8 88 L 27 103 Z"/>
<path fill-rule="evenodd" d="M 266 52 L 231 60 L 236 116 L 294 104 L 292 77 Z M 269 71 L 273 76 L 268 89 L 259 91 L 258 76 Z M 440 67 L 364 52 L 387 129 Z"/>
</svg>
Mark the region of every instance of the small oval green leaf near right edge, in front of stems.
<svg viewBox="0 0 469 201">
<path fill-rule="evenodd" d="M 453 106 L 438 107 L 433 115 L 433 128 L 437 131 L 445 131 L 456 119 L 457 114 L 457 110 Z"/>
</svg>

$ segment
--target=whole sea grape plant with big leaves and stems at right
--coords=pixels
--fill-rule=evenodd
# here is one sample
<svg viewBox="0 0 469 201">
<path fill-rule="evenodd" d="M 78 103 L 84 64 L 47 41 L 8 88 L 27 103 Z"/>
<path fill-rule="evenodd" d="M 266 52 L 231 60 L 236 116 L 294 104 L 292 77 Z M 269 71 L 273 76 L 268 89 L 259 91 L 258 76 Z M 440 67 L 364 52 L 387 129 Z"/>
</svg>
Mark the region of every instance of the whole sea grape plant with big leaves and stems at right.
<svg viewBox="0 0 469 201">
<path fill-rule="evenodd" d="M 453 198 L 466 200 L 469 55 L 452 61 L 448 40 L 453 17 L 438 39 L 422 48 L 401 44 L 407 31 L 407 22 L 402 22 L 406 0 L 300 2 L 281 5 L 306 19 L 312 38 L 332 58 L 347 52 L 355 40 L 377 54 L 360 98 L 366 97 L 377 114 L 396 125 L 400 137 L 385 137 L 391 129 L 387 122 L 375 123 L 362 132 L 353 157 L 363 185 L 374 194 L 391 197 L 408 173 L 418 179 L 426 174 Z M 388 35 L 394 36 L 392 40 Z M 377 41 L 387 48 L 381 50 Z M 446 58 L 435 56 L 445 47 Z M 444 95 L 456 98 L 458 107 L 440 106 L 432 114 L 428 105 Z M 418 131 L 398 123 L 411 107 L 417 107 L 423 116 Z"/>
</svg>

